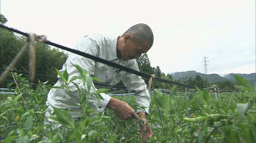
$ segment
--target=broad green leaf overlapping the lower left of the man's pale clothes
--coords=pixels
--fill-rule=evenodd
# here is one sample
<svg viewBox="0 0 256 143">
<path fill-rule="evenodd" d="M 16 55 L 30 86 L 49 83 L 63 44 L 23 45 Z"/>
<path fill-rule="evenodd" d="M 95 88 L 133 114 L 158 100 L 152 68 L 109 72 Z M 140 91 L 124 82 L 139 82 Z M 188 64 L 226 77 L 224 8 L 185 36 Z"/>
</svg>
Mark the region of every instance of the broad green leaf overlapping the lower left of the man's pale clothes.
<svg viewBox="0 0 256 143">
<path fill-rule="evenodd" d="M 50 119 L 53 119 L 57 122 L 59 122 L 62 125 L 69 126 L 71 128 L 74 128 L 74 119 L 71 116 L 71 113 L 59 108 L 53 108 L 54 113 L 56 115 L 55 117 L 49 117 Z"/>
</svg>

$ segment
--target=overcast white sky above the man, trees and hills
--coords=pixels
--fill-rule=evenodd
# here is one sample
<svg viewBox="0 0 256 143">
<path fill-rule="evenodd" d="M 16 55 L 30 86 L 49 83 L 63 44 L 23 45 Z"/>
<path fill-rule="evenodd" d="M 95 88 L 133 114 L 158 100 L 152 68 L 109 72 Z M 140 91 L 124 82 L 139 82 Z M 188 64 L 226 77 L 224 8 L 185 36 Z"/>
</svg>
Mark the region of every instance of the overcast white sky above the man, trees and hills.
<svg viewBox="0 0 256 143">
<path fill-rule="evenodd" d="M 73 48 L 85 35 L 118 37 L 145 23 L 154 44 L 152 67 L 165 74 L 184 71 L 220 75 L 255 73 L 255 0 L 68 1 L 1 0 L 6 26 L 45 34 Z"/>
</svg>

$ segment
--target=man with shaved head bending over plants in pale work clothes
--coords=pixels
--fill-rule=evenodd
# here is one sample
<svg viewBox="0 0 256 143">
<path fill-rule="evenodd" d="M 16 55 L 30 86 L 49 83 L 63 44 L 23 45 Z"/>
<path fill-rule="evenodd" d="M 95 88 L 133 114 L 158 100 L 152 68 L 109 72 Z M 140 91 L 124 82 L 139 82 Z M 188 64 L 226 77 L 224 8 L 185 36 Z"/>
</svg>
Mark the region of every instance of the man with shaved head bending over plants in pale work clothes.
<svg viewBox="0 0 256 143">
<path fill-rule="evenodd" d="M 124 65 L 126 67 L 139 70 L 137 62 L 142 53 L 146 53 L 153 45 L 154 36 L 151 28 L 146 24 L 136 24 L 129 28 L 124 34 L 117 38 L 106 37 L 100 34 L 86 36 L 81 39 L 75 46 L 76 50 L 83 51 L 99 58 Z M 135 112 L 124 101 L 112 98 L 106 94 L 101 94 L 103 100 L 89 100 L 89 104 L 92 109 L 96 109 L 96 112 L 102 112 L 105 107 L 111 108 L 115 111 L 116 115 L 123 120 L 137 119 L 139 120 L 141 137 L 144 140 L 147 137 L 152 136 L 152 130 L 150 124 L 146 122 L 145 115 L 148 113 L 150 106 L 150 95 L 146 89 L 146 84 L 140 76 L 131 74 L 129 72 L 120 71 L 114 67 L 84 58 L 83 56 L 71 53 L 62 66 L 60 72 L 67 70 L 69 73 L 69 79 L 79 76 L 79 72 L 73 65 L 79 65 L 83 70 L 87 70 L 90 76 L 100 79 L 94 83 L 115 85 L 122 80 L 124 86 L 129 91 L 135 91 L 136 103 L 145 107 L 144 110 L 137 109 Z M 59 80 L 54 86 L 60 87 L 63 81 Z M 82 85 L 81 79 L 76 79 L 73 82 L 78 85 Z M 96 86 L 96 84 L 95 84 Z M 94 84 L 92 89 L 95 90 Z M 69 89 L 76 89 L 72 83 L 69 85 Z M 78 119 L 81 116 L 80 109 L 76 105 L 79 101 L 77 91 L 72 91 L 72 97 L 65 95 L 66 91 L 62 89 L 52 89 L 48 94 L 48 111 L 46 117 L 50 117 L 53 112 L 53 107 L 56 108 L 68 108 L 71 110 L 71 115 L 74 119 Z M 138 115 L 137 115 L 137 114 Z M 141 117 L 139 119 L 139 117 Z M 144 121 L 144 126 L 141 126 L 141 120 Z M 144 132 L 145 130 L 145 132 Z"/>
</svg>

